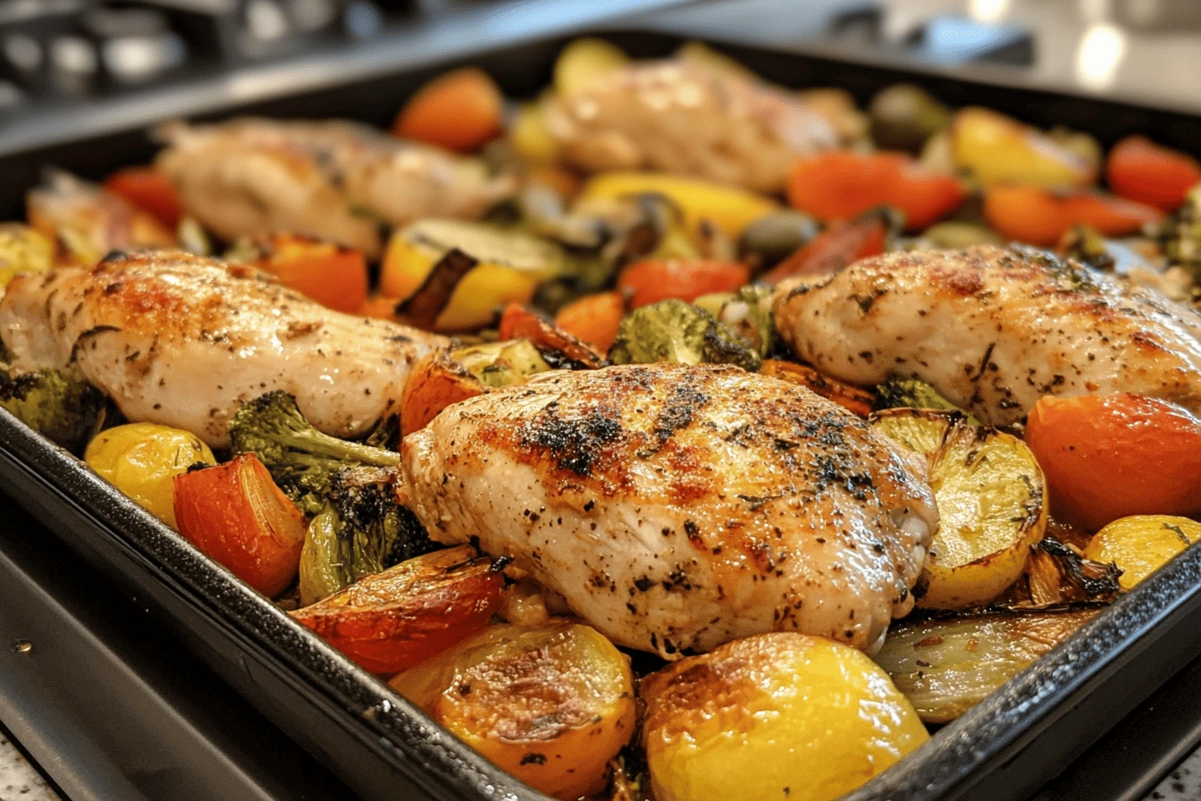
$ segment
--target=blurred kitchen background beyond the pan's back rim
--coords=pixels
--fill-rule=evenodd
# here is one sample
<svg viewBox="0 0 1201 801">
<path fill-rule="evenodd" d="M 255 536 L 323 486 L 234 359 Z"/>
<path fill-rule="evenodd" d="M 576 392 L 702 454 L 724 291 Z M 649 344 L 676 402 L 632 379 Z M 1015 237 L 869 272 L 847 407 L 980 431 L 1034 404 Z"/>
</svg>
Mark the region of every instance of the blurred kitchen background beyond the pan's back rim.
<svg viewBox="0 0 1201 801">
<path fill-rule="evenodd" d="M 0 0 L 0 148 L 349 82 L 414 54 L 647 23 L 1201 107 L 1195 0 Z"/>
</svg>

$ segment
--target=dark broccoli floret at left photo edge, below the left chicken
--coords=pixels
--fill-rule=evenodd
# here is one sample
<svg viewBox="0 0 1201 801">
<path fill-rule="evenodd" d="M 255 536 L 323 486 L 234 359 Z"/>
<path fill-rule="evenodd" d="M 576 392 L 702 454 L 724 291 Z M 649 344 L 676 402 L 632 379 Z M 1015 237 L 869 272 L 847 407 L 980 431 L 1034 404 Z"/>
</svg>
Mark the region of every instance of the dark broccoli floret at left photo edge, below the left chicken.
<svg viewBox="0 0 1201 801">
<path fill-rule="evenodd" d="M 107 401 L 82 378 L 58 370 L 12 375 L 0 365 L 0 406 L 55 444 L 79 455 L 103 422 Z"/>
</svg>

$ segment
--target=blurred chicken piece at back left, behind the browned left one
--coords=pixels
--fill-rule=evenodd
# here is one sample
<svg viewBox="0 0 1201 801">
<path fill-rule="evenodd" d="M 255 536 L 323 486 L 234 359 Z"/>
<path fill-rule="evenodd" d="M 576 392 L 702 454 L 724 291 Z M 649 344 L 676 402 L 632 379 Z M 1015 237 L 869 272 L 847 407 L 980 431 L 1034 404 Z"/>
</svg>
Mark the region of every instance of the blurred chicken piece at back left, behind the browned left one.
<svg viewBox="0 0 1201 801">
<path fill-rule="evenodd" d="M 512 190 L 483 162 L 354 122 L 172 124 L 159 166 L 227 240 L 283 231 L 380 255 L 380 223 L 478 217 Z"/>
</svg>

